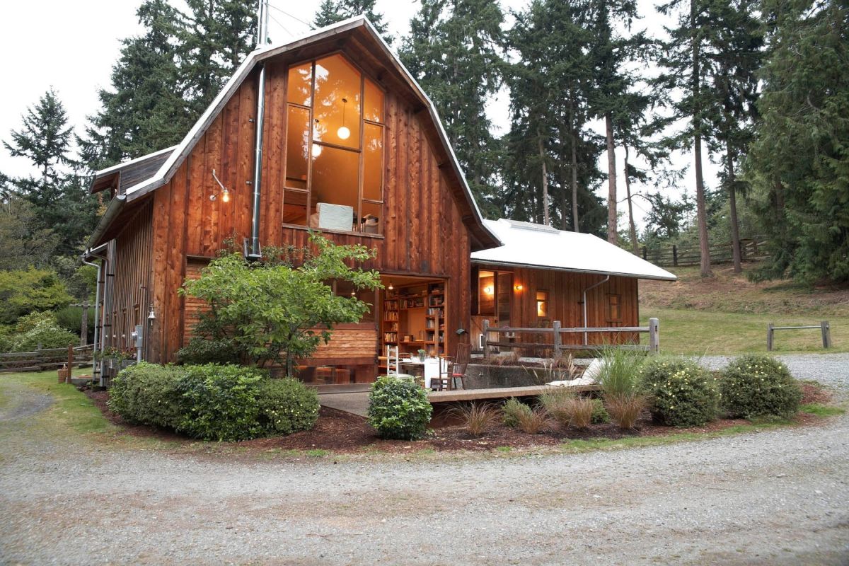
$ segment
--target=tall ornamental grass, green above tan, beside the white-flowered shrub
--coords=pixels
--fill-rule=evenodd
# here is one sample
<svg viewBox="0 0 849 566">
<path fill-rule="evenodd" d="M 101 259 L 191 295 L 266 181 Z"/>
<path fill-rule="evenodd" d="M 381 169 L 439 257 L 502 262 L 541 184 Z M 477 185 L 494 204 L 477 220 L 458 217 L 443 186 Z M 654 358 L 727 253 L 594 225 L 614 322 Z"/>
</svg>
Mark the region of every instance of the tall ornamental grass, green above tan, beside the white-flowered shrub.
<svg viewBox="0 0 849 566">
<path fill-rule="evenodd" d="M 639 371 L 645 358 L 642 354 L 616 348 L 602 350 L 601 357 L 599 384 L 607 412 L 621 429 L 633 429 L 648 404 L 639 386 Z"/>
</svg>

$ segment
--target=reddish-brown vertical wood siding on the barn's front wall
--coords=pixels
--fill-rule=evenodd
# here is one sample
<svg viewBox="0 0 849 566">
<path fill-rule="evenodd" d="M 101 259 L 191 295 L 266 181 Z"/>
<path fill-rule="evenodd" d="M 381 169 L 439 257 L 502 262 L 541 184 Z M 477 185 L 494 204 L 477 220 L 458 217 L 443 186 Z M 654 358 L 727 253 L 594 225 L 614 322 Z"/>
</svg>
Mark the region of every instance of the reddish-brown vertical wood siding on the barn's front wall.
<svg viewBox="0 0 849 566">
<path fill-rule="evenodd" d="M 306 229 L 284 227 L 286 62 L 266 67 L 266 115 L 262 161 L 262 245 L 307 242 Z M 420 108 L 418 109 L 420 110 Z M 187 275 L 187 256 L 215 255 L 226 238 L 241 245 L 250 236 L 256 120 L 256 72 L 252 73 L 166 185 L 153 198 L 153 302 L 149 359 L 173 361 L 188 335 L 194 315 L 177 289 Z M 377 250 L 365 267 L 385 274 L 445 277 L 447 352 L 458 328 L 469 323 L 470 238 L 458 203 L 457 180 L 443 171 L 433 126 L 424 112 L 394 94 L 385 94 L 385 205 L 380 237 L 326 233 L 337 244 L 364 244 Z M 230 201 L 210 199 L 220 192 L 212 170 L 230 191 Z M 464 339 L 468 339 L 464 337 Z"/>
</svg>

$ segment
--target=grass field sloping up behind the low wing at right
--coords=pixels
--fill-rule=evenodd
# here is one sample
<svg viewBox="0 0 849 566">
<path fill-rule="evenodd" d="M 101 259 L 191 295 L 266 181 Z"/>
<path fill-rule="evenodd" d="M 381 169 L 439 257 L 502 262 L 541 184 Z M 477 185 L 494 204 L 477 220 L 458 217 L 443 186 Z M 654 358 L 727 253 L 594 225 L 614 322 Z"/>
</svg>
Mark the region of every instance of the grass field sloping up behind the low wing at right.
<svg viewBox="0 0 849 566">
<path fill-rule="evenodd" d="M 849 289 L 807 288 L 786 281 L 751 283 L 730 267 L 702 279 L 698 268 L 671 270 L 674 283 L 640 282 L 641 323 L 661 321 L 661 350 L 722 355 L 767 351 L 767 324 L 801 326 L 829 321 L 833 347 L 824 350 L 814 330 L 775 333 L 778 353 L 849 351 Z M 647 337 L 643 337 L 647 339 Z"/>
</svg>

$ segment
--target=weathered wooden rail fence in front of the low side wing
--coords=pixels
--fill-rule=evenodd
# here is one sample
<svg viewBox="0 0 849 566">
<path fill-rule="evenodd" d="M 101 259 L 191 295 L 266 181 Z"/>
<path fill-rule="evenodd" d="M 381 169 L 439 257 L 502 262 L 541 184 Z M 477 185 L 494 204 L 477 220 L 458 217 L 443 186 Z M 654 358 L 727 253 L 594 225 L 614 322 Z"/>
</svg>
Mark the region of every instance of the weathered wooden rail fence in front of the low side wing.
<svg viewBox="0 0 849 566">
<path fill-rule="evenodd" d="M 554 350 L 554 354 L 559 354 L 564 350 L 601 350 L 604 348 L 617 348 L 620 350 L 644 350 L 656 354 L 661 348 L 660 321 L 657 318 L 649 318 L 649 326 L 622 326 L 616 328 L 596 328 L 596 327 L 579 327 L 579 328 L 563 328 L 560 326 L 560 321 L 551 323 L 551 328 L 518 328 L 518 327 L 495 327 L 490 326 L 488 320 L 483 322 L 484 350 L 488 350 L 489 346 L 498 346 L 499 348 L 528 348 L 531 350 Z M 495 333 L 498 336 L 496 340 L 490 340 L 489 335 Z M 551 342 L 508 342 L 501 339 L 502 334 L 514 335 L 516 333 L 534 333 L 551 335 Z M 589 333 L 648 333 L 649 344 L 586 344 L 588 342 Z M 583 334 L 585 344 L 563 344 L 561 334 Z"/>
</svg>

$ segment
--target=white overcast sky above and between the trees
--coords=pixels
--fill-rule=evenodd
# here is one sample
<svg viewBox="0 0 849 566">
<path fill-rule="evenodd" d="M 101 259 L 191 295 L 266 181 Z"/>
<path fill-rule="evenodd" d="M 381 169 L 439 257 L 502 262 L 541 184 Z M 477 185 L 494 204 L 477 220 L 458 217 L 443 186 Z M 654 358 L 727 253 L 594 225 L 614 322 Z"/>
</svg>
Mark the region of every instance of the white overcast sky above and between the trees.
<svg viewBox="0 0 849 566">
<path fill-rule="evenodd" d="M 0 7 L 0 76 L 6 87 L 2 94 L 0 109 L 0 140 L 8 141 L 9 131 L 19 129 L 21 115 L 27 107 L 53 87 L 58 93 L 70 123 L 82 132 L 86 116 L 98 109 L 97 92 L 100 87 L 109 87 L 112 64 L 118 59 L 121 39 L 140 33 L 136 20 L 136 9 L 142 0 L 41 0 L 20 2 L 5 0 Z M 175 2 L 175 0 L 171 0 Z M 177 2 L 178 3 L 178 0 Z M 271 0 L 274 8 L 270 14 L 269 35 L 272 41 L 285 42 L 291 36 L 301 35 L 307 26 L 295 20 L 312 21 L 320 0 Z M 502 0 L 505 11 L 519 10 L 527 0 Z M 644 20 L 638 21 L 635 29 L 649 28 L 655 34 L 662 33 L 663 19 L 655 13 L 653 0 L 640 0 Z M 384 14 L 391 32 L 401 36 L 408 32 L 409 20 L 419 7 L 413 0 L 378 0 L 377 11 Z M 290 15 L 283 14 L 284 10 Z M 294 18 L 292 17 L 294 16 Z M 509 126 L 509 98 L 506 92 L 494 97 L 487 109 L 496 133 L 503 133 Z M 603 133 L 603 132 L 599 132 Z M 617 172 L 621 171 L 622 150 L 617 149 Z M 677 165 L 690 162 L 691 155 L 681 155 Z M 599 166 L 606 171 L 607 158 L 602 154 Z M 705 160 L 706 183 L 715 184 L 716 169 Z M 22 176 L 30 172 L 26 160 L 12 158 L 0 147 L 0 171 L 9 176 Z M 624 198 L 625 187 L 619 173 L 618 191 Z M 692 174 L 684 179 L 682 188 L 693 193 Z M 639 190 L 639 187 L 633 187 Z M 646 188 L 642 188 L 645 190 Z M 606 199 L 607 185 L 599 189 Z M 638 225 L 644 218 L 644 202 L 634 199 Z M 625 204 L 619 205 L 620 213 Z M 627 222 L 620 219 L 620 227 Z"/>
</svg>

